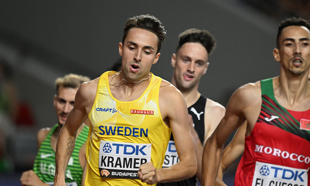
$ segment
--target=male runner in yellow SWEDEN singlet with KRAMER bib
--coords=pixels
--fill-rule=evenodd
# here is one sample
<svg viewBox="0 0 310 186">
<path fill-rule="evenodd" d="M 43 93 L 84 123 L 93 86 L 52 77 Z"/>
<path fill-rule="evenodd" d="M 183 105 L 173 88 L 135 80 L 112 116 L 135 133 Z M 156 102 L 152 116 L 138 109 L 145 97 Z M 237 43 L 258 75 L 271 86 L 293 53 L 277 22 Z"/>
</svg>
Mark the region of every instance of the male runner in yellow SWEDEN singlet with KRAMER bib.
<svg viewBox="0 0 310 186">
<path fill-rule="evenodd" d="M 91 125 L 85 185 L 147 185 L 195 174 L 185 100 L 169 82 L 150 73 L 165 33 L 162 23 L 151 15 L 126 22 L 119 43 L 122 71 L 105 72 L 78 90 L 57 142 L 55 186 L 65 185 L 64 170 L 75 133 L 87 117 Z M 180 162 L 161 169 L 171 131 Z"/>
</svg>

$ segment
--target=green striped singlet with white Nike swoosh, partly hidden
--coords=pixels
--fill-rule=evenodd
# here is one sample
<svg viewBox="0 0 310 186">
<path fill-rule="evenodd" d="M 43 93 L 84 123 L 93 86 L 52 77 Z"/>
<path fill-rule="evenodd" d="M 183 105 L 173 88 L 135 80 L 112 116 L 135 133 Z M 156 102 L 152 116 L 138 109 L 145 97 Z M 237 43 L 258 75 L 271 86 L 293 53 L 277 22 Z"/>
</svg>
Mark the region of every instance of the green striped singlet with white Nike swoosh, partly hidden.
<svg viewBox="0 0 310 186">
<path fill-rule="evenodd" d="M 57 127 L 58 124 L 54 125 L 47 134 L 46 139 L 42 142 L 33 166 L 33 172 L 38 175 L 44 183 L 49 185 L 53 185 L 55 176 L 55 152 L 51 147 L 51 135 L 55 132 Z M 65 174 L 65 181 L 68 186 L 81 185 L 83 169 L 80 165 L 79 152 L 86 142 L 87 133 L 88 126 L 84 126 L 75 140 L 75 147 Z"/>
</svg>

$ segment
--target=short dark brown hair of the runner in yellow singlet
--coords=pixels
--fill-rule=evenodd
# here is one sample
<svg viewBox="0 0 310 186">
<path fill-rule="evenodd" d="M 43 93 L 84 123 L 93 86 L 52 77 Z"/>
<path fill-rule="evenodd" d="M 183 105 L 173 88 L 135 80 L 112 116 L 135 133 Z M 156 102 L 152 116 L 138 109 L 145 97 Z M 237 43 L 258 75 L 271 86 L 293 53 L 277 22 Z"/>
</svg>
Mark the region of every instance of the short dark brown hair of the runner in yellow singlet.
<svg viewBox="0 0 310 186">
<path fill-rule="evenodd" d="M 162 22 L 160 20 L 149 14 L 136 15 L 129 18 L 124 26 L 123 44 L 128 34 L 128 31 L 132 28 L 145 29 L 154 33 L 158 38 L 156 53 L 160 51 L 162 43 L 165 41 L 166 38 L 166 30 L 164 29 L 164 26 L 162 25 Z"/>
</svg>

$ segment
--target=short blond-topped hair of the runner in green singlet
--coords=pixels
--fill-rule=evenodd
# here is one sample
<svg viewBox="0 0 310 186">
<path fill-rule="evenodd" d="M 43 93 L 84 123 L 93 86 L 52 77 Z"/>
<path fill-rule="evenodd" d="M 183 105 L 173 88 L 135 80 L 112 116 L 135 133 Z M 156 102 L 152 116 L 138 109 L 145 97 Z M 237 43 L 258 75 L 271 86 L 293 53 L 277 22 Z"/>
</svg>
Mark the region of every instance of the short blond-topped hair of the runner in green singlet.
<svg viewBox="0 0 310 186">
<path fill-rule="evenodd" d="M 64 77 L 57 78 L 55 80 L 57 95 L 58 95 L 58 89 L 60 86 L 63 86 L 65 88 L 67 87 L 78 88 L 83 82 L 88 82 L 90 80 L 91 79 L 88 78 L 87 76 L 82 76 L 82 75 L 72 74 L 72 73 L 67 74 Z"/>
</svg>

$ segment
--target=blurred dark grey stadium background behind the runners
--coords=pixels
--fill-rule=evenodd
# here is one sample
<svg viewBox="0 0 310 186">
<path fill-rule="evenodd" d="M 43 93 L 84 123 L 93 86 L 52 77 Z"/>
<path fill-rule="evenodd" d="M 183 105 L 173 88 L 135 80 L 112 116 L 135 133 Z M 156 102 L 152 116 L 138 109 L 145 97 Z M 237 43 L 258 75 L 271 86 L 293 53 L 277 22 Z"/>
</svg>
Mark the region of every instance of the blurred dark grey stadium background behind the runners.
<svg viewBox="0 0 310 186">
<path fill-rule="evenodd" d="M 179 33 L 209 30 L 217 46 L 199 91 L 226 106 L 239 86 L 279 74 L 277 26 L 291 16 L 309 20 L 307 7 L 309 0 L 1 1 L 0 185 L 20 185 L 21 172 L 32 169 L 37 131 L 57 122 L 55 79 L 93 79 L 111 69 L 129 17 L 162 21 L 166 41 L 151 72 L 168 81 Z M 226 184 L 233 185 L 236 167 L 224 175 Z"/>
</svg>

